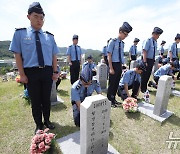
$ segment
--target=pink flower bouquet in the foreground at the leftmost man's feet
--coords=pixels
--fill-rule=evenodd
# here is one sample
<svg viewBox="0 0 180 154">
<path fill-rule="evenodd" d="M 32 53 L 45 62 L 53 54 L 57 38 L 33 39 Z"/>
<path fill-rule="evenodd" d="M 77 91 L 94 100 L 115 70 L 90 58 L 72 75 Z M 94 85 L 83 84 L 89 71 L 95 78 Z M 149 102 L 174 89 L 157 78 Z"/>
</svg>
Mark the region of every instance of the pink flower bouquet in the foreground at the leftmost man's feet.
<svg viewBox="0 0 180 154">
<path fill-rule="evenodd" d="M 30 154 L 43 154 L 50 149 L 55 134 L 47 133 L 48 131 L 49 128 L 46 128 L 44 131 L 39 130 L 32 138 Z"/>
</svg>

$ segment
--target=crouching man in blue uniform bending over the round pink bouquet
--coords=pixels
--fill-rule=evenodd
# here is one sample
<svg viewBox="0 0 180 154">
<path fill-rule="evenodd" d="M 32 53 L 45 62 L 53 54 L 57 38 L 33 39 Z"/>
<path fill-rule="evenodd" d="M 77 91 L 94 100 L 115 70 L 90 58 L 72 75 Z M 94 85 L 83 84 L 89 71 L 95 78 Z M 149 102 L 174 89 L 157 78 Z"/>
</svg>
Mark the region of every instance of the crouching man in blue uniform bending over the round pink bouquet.
<svg viewBox="0 0 180 154">
<path fill-rule="evenodd" d="M 123 77 L 119 82 L 118 96 L 125 100 L 127 97 L 137 98 L 140 91 L 141 76 L 140 74 L 146 71 L 146 66 L 143 62 L 136 65 L 134 69 L 128 70 L 124 73 Z M 129 90 L 132 89 L 132 95 Z"/>
</svg>

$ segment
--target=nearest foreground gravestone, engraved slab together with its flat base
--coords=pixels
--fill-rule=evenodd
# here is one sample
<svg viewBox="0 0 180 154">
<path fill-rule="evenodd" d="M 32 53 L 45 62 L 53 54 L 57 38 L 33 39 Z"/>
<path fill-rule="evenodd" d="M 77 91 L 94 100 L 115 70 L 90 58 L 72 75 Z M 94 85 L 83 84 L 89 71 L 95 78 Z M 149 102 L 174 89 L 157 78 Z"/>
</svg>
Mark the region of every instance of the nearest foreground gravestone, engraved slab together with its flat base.
<svg viewBox="0 0 180 154">
<path fill-rule="evenodd" d="M 119 154 L 108 144 L 111 104 L 103 95 L 86 97 L 80 107 L 80 132 L 57 139 L 63 154 Z"/>
</svg>

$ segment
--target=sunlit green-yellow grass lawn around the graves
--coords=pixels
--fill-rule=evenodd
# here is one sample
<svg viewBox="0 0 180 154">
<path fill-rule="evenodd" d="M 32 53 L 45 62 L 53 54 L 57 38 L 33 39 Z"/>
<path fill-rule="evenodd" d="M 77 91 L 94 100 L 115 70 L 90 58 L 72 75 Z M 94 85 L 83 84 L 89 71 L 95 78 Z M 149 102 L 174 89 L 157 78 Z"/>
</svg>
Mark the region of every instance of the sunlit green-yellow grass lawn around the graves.
<svg viewBox="0 0 180 154">
<path fill-rule="evenodd" d="M 78 131 L 72 118 L 70 103 L 70 81 L 63 80 L 59 86 L 58 95 L 65 101 L 53 106 L 51 121 L 56 129 L 56 138 Z M 180 90 L 180 81 L 176 88 Z M 30 105 L 20 97 L 23 86 L 15 81 L 0 83 L 0 153 L 28 154 L 35 125 L 31 115 Z M 155 100 L 156 91 L 150 93 L 151 103 Z M 120 99 L 119 99 L 120 100 Z M 125 113 L 122 108 L 112 108 L 109 143 L 121 154 L 178 154 L 177 149 L 168 149 L 166 140 L 169 133 L 180 138 L 180 97 L 171 96 L 168 110 L 174 115 L 162 125 L 141 113 Z M 54 154 L 61 153 L 55 147 Z"/>
</svg>

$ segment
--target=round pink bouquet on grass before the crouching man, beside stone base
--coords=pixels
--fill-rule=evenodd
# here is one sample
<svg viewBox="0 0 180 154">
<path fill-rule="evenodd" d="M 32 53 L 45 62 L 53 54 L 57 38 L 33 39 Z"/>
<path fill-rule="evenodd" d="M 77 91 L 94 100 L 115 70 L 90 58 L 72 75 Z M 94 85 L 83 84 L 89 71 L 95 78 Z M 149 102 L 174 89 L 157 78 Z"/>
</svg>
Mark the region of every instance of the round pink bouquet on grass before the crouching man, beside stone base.
<svg viewBox="0 0 180 154">
<path fill-rule="evenodd" d="M 137 99 L 128 97 L 124 100 L 122 106 L 126 112 L 137 112 Z"/>
</svg>

